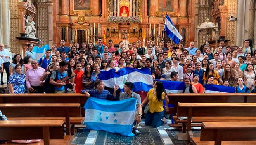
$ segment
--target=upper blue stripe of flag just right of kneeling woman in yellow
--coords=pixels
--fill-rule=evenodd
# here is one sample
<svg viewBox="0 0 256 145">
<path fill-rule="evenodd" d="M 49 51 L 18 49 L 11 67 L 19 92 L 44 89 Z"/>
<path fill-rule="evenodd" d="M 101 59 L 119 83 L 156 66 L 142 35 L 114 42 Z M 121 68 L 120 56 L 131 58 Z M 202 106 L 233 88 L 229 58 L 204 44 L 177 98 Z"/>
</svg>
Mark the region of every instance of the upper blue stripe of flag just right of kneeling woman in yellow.
<svg viewBox="0 0 256 145">
<path fill-rule="evenodd" d="M 184 82 L 179 81 L 164 81 L 164 80 L 156 80 L 163 82 L 164 89 L 166 90 L 183 90 L 185 87 Z"/>
</svg>

